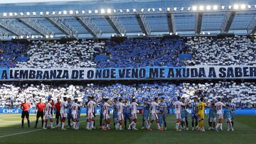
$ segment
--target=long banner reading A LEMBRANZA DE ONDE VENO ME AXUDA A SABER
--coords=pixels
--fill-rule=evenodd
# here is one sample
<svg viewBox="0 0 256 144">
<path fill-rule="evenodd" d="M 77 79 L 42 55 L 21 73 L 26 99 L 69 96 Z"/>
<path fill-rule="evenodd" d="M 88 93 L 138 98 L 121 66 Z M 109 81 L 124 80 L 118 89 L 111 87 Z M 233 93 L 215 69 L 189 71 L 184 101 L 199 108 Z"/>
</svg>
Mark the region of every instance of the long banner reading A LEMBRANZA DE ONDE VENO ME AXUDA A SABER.
<svg viewBox="0 0 256 144">
<path fill-rule="evenodd" d="M 0 68 L 0 80 L 256 79 L 256 66 Z"/>
</svg>

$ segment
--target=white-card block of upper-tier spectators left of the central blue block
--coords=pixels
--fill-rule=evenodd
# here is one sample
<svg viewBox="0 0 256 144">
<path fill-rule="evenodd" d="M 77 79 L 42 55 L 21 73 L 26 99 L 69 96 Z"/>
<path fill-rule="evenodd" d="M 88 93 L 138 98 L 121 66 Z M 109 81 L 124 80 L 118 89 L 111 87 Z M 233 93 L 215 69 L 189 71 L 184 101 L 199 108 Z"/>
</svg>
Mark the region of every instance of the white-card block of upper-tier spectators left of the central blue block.
<svg viewBox="0 0 256 144">
<path fill-rule="evenodd" d="M 104 45 L 105 43 L 96 43 L 93 40 L 74 40 L 67 43 L 34 41 L 28 48 L 29 60 L 18 62 L 17 67 L 95 67 L 93 57 L 104 48 Z"/>
</svg>

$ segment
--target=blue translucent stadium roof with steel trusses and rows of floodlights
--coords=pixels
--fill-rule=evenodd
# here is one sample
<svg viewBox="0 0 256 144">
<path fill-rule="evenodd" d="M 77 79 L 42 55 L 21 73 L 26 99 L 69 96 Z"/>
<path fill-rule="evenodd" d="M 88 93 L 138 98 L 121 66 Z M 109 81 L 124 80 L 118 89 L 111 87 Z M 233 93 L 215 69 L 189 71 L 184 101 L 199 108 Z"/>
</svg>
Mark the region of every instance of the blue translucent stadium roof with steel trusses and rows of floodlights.
<svg viewBox="0 0 256 144">
<path fill-rule="evenodd" d="M 1 1 L 0 38 L 256 33 L 255 0 L 48 1 Z"/>
</svg>

